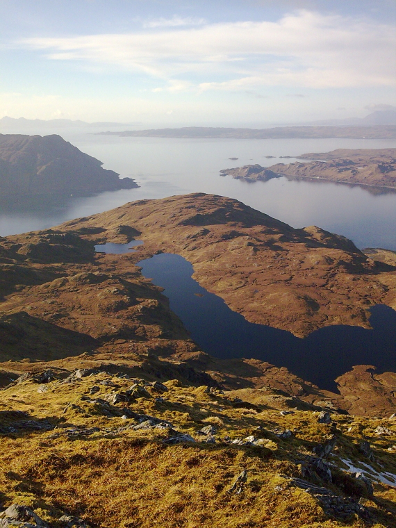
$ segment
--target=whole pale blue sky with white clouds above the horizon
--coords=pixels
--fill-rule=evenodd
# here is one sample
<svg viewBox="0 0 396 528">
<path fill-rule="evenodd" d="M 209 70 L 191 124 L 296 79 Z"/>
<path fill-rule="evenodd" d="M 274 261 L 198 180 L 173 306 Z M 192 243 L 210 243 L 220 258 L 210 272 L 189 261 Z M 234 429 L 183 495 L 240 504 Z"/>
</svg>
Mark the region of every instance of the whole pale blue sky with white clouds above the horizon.
<svg viewBox="0 0 396 528">
<path fill-rule="evenodd" d="M 211 125 L 396 106 L 395 0 L 1 0 L 0 118 Z"/>
</svg>

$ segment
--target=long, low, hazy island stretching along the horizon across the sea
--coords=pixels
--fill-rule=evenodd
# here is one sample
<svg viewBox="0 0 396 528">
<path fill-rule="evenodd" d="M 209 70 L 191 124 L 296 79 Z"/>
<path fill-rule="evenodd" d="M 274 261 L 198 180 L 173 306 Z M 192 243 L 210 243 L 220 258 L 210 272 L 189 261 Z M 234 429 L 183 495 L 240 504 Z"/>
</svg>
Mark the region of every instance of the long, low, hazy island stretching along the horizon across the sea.
<svg viewBox="0 0 396 528">
<path fill-rule="evenodd" d="M 180 129 L 126 130 L 98 132 L 99 135 L 119 135 L 131 138 L 217 138 L 217 139 L 279 139 L 279 138 L 350 138 L 395 139 L 396 126 L 278 126 L 272 129 L 227 129 L 211 126 L 183 126 Z"/>
</svg>

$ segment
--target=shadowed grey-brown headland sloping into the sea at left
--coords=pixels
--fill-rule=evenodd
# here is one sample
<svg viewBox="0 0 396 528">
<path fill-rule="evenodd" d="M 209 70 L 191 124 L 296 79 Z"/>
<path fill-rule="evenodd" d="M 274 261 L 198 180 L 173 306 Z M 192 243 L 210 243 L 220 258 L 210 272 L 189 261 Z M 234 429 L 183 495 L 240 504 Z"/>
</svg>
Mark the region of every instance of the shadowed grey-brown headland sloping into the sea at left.
<svg viewBox="0 0 396 528">
<path fill-rule="evenodd" d="M 60 135 L 0 134 L 0 198 L 87 196 L 139 186 L 101 165 Z"/>
</svg>

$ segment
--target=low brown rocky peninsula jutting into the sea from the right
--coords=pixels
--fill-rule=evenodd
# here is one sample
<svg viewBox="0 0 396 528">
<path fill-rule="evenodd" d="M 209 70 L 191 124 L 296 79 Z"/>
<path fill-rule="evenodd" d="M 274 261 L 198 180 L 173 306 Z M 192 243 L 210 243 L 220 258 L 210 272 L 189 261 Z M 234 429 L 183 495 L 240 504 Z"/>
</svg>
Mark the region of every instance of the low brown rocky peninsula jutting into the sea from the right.
<svg viewBox="0 0 396 528">
<path fill-rule="evenodd" d="M 370 187 L 396 189 L 396 149 L 337 149 L 325 153 L 297 156 L 308 163 L 277 163 L 271 167 L 245 165 L 220 171 L 247 181 L 267 181 L 286 176 L 288 179 L 326 180 Z"/>
</svg>

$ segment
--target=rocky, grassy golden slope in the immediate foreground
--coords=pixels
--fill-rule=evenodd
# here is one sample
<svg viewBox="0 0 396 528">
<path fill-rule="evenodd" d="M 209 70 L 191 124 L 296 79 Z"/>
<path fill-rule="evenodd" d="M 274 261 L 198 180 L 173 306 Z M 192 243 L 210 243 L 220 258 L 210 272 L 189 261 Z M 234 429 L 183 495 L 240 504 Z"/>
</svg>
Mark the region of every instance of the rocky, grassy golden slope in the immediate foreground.
<svg viewBox="0 0 396 528">
<path fill-rule="evenodd" d="M 395 418 L 89 362 L 2 390 L 1 526 L 396 526 Z"/>
</svg>

